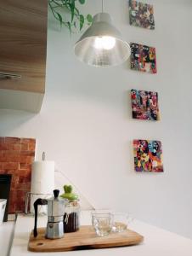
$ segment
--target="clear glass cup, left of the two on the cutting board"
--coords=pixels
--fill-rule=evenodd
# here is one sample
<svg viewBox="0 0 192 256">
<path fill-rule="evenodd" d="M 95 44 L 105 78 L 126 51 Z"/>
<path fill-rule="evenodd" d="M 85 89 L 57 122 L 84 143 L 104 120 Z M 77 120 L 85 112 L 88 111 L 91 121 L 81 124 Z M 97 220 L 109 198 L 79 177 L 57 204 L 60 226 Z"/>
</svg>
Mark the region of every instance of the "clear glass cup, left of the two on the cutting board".
<svg viewBox="0 0 192 256">
<path fill-rule="evenodd" d="M 112 216 L 110 213 L 93 213 L 92 223 L 98 236 L 108 236 L 112 229 Z"/>
</svg>

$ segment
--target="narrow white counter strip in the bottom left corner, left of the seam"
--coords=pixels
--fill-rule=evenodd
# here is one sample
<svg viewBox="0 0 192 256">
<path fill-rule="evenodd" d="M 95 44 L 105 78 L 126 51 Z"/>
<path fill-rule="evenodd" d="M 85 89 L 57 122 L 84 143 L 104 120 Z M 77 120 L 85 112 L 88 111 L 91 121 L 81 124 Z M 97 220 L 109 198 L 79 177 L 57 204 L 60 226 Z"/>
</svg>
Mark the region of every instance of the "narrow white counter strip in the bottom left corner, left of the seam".
<svg viewBox="0 0 192 256">
<path fill-rule="evenodd" d="M 0 225 L 0 255 L 8 256 L 14 236 L 14 221 L 3 222 Z"/>
</svg>

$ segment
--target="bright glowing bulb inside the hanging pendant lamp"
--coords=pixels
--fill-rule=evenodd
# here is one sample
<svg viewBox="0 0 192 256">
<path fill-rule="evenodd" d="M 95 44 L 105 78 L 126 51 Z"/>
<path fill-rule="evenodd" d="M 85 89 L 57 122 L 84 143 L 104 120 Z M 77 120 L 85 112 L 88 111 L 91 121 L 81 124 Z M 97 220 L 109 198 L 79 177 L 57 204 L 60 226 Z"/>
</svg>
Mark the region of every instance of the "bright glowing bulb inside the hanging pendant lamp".
<svg viewBox="0 0 192 256">
<path fill-rule="evenodd" d="M 98 37 L 94 40 L 94 48 L 96 49 L 113 49 L 116 45 L 116 38 Z"/>
</svg>

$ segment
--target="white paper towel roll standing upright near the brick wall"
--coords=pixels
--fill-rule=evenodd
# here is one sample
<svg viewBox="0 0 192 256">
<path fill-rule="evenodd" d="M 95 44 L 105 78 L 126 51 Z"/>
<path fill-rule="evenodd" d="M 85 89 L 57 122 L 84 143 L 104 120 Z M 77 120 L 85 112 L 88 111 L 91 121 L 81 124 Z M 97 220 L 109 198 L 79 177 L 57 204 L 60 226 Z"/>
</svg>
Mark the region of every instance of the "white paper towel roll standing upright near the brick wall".
<svg viewBox="0 0 192 256">
<path fill-rule="evenodd" d="M 31 172 L 31 193 L 53 194 L 54 161 L 34 161 Z"/>
</svg>

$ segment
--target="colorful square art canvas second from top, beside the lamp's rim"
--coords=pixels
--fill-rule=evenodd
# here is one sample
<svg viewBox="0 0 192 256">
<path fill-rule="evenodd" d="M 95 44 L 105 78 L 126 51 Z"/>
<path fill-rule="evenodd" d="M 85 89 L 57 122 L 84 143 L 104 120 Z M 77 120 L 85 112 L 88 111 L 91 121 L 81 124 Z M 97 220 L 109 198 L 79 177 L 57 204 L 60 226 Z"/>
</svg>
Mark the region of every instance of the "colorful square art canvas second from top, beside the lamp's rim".
<svg viewBox="0 0 192 256">
<path fill-rule="evenodd" d="M 131 69 L 156 73 L 155 48 L 143 44 L 131 43 Z"/>
</svg>

